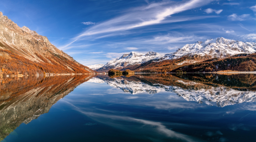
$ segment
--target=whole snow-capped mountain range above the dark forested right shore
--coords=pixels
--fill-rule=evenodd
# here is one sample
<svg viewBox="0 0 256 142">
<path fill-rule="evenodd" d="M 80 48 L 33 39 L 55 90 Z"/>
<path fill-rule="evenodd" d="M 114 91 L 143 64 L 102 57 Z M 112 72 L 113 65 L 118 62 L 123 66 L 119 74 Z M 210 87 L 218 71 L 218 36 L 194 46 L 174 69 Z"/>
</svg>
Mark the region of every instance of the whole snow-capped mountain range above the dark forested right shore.
<svg viewBox="0 0 256 142">
<path fill-rule="evenodd" d="M 151 65 L 152 67 L 157 67 L 158 65 L 155 64 L 158 63 L 154 64 L 154 62 L 161 62 L 160 64 L 163 64 L 163 62 L 169 60 L 176 60 L 177 62 L 171 62 L 171 64 L 179 66 L 201 62 L 212 58 L 223 59 L 236 54 L 255 52 L 256 43 L 244 43 L 219 37 L 209 39 L 204 42 L 198 41 L 195 44 L 186 44 L 175 53 L 168 53 L 165 55 L 160 55 L 159 53 L 154 52 L 149 52 L 145 55 L 135 52 L 124 54 L 118 59 L 109 61 L 106 65 L 96 71 L 108 71 L 109 69 L 136 70 L 139 66 L 141 66 L 141 68 L 146 68 L 145 65 L 150 63 L 153 63 Z M 164 65 L 166 63 L 164 63 Z"/>
</svg>

